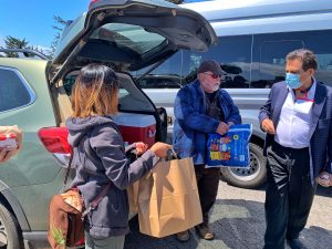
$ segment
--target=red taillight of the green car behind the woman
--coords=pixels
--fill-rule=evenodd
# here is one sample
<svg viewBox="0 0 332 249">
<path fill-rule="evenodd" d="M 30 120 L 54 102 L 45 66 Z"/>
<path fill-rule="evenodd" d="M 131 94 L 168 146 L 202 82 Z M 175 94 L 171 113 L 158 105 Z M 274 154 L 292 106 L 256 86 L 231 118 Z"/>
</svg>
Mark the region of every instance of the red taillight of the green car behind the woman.
<svg viewBox="0 0 332 249">
<path fill-rule="evenodd" d="M 63 166 L 68 166 L 72 152 L 68 143 L 68 134 L 66 127 L 46 127 L 38 132 L 38 136 L 44 147 L 52 153 Z"/>
</svg>

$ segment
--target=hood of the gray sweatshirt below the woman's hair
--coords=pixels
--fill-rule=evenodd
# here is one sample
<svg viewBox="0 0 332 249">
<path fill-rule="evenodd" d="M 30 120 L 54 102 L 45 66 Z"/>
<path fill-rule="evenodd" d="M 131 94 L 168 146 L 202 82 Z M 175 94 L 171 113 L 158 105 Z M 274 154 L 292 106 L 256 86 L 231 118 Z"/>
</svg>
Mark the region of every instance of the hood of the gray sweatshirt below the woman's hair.
<svg viewBox="0 0 332 249">
<path fill-rule="evenodd" d="M 65 126 L 69 129 L 68 142 L 72 147 L 79 145 L 81 138 L 93 127 L 104 124 L 115 124 L 111 116 L 69 117 Z"/>
</svg>

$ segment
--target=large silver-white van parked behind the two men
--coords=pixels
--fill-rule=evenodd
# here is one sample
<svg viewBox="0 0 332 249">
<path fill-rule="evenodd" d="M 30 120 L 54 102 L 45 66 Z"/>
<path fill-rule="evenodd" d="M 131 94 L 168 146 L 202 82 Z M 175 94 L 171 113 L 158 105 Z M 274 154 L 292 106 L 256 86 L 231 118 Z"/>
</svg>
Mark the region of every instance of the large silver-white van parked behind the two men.
<svg viewBox="0 0 332 249">
<path fill-rule="evenodd" d="M 257 187 L 266 180 L 264 134 L 259 127 L 258 112 L 271 85 L 284 80 L 287 53 L 300 48 L 312 50 L 319 60 L 317 79 L 332 85 L 332 1 L 216 0 L 183 7 L 209 20 L 218 44 L 206 53 L 179 51 L 137 83 L 156 106 L 167 110 L 172 137 L 173 104 L 178 89 L 196 77 L 201 61 L 219 61 L 225 71 L 221 87 L 239 106 L 242 122 L 253 124 L 250 168 L 225 168 L 222 175 L 235 186 Z"/>
</svg>

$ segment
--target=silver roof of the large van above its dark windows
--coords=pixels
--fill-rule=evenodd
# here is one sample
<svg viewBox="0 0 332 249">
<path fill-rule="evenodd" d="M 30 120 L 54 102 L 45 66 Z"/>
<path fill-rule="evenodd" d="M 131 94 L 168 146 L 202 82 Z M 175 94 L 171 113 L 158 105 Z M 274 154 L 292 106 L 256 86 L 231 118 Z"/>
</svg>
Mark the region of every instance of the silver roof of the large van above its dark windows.
<svg viewBox="0 0 332 249">
<path fill-rule="evenodd" d="M 183 4 L 198 11 L 218 37 L 332 29 L 332 1 L 215 0 Z"/>
</svg>

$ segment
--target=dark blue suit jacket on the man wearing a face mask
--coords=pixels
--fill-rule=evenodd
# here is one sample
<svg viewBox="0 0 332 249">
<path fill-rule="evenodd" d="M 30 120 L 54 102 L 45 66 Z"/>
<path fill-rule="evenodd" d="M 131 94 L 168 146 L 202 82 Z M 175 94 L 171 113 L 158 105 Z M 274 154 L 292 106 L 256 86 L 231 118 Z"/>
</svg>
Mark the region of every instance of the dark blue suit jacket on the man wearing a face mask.
<svg viewBox="0 0 332 249">
<path fill-rule="evenodd" d="M 284 82 L 273 84 L 269 100 L 260 110 L 260 124 L 269 117 L 277 128 L 288 91 Z M 310 174 L 313 183 L 324 167 L 328 170 L 332 168 L 332 87 L 320 82 L 317 83 L 314 93 L 310 137 Z M 273 139 L 273 135 L 267 134 L 264 155 Z"/>
</svg>

